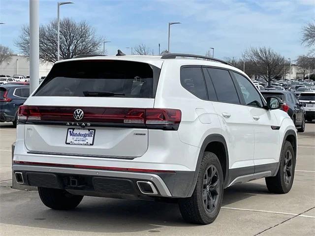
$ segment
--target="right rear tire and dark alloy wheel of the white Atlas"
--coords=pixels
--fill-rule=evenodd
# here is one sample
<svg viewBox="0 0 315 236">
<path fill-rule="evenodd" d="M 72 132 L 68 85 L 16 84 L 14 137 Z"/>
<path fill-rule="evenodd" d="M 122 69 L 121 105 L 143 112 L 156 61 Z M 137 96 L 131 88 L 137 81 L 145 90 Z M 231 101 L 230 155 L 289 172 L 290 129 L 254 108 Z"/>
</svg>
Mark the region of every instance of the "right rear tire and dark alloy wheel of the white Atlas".
<svg viewBox="0 0 315 236">
<path fill-rule="evenodd" d="M 220 212 L 223 182 L 222 168 L 217 155 L 206 151 L 201 160 L 197 183 L 191 197 L 179 200 L 179 208 L 184 220 L 195 224 L 212 223 Z"/>
</svg>

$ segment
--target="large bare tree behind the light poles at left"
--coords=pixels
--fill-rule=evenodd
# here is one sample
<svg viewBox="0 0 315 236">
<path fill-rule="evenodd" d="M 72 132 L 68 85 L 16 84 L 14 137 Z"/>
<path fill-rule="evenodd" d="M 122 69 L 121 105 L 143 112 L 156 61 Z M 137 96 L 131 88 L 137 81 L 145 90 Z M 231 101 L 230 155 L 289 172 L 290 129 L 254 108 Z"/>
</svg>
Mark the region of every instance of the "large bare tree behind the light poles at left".
<svg viewBox="0 0 315 236">
<path fill-rule="evenodd" d="M 60 22 L 60 57 L 70 59 L 80 54 L 100 54 L 103 37 L 96 36 L 95 29 L 87 22 L 79 23 L 64 18 Z M 23 26 L 15 45 L 21 53 L 30 55 L 30 28 Z M 39 59 L 57 61 L 57 20 L 39 28 Z"/>
</svg>

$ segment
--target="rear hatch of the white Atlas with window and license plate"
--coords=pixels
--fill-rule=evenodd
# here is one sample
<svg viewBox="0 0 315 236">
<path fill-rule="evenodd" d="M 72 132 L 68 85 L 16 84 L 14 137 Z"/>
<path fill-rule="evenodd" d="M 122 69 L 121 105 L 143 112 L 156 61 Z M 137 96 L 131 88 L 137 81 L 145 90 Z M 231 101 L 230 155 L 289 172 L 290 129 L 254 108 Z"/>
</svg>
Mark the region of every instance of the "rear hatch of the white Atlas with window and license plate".
<svg viewBox="0 0 315 236">
<path fill-rule="evenodd" d="M 145 108 L 160 68 L 126 60 L 56 63 L 20 108 L 31 153 L 132 159 L 148 148 Z"/>
</svg>

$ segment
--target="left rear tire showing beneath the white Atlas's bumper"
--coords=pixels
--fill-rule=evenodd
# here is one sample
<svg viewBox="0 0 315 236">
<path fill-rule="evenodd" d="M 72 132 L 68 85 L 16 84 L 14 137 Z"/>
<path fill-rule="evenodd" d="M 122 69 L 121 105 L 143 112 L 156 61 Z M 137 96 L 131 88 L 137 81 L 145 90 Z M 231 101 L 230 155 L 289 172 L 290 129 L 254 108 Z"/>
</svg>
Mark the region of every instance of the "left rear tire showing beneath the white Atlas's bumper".
<svg viewBox="0 0 315 236">
<path fill-rule="evenodd" d="M 55 210 L 71 210 L 77 207 L 83 196 L 72 195 L 63 189 L 38 187 L 40 200 L 46 207 Z"/>
</svg>

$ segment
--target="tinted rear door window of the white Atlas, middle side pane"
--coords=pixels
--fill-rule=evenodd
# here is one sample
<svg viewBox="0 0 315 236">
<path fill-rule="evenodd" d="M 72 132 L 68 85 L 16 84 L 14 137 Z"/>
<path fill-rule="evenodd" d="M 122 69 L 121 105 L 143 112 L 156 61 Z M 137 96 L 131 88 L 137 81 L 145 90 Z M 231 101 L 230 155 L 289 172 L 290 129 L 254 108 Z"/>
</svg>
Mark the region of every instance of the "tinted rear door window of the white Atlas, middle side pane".
<svg viewBox="0 0 315 236">
<path fill-rule="evenodd" d="M 221 102 L 240 104 L 234 83 L 227 70 L 207 68 L 218 100 Z"/>
</svg>

